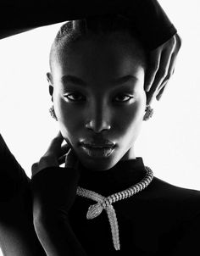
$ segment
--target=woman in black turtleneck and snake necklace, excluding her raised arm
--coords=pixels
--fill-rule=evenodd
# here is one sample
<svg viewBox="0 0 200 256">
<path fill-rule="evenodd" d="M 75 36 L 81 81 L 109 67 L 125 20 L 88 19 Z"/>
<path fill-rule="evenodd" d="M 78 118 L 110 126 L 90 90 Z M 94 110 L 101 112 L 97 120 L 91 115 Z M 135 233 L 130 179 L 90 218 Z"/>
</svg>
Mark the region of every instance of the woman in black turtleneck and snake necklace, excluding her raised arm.
<svg viewBox="0 0 200 256">
<path fill-rule="evenodd" d="M 31 180 L 34 225 L 47 255 L 199 252 L 200 192 L 153 177 L 136 157 L 152 112 L 147 51 L 130 20 L 105 15 L 64 24 L 50 70 L 60 133 L 33 164 Z"/>
</svg>

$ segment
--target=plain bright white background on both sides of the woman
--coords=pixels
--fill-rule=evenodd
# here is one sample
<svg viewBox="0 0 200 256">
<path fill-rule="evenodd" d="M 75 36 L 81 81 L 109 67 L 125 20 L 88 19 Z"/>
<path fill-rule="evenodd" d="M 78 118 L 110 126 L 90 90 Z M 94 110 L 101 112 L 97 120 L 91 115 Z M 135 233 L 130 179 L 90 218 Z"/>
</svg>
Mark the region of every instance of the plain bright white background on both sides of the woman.
<svg viewBox="0 0 200 256">
<path fill-rule="evenodd" d="M 182 37 L 175 75 L 152 120 L 144 122 L 136 156 L 154 175 L 176 186 L 200 190 L 200 3 L 160 0 Z M 31 177 L 58 125 L 48 113 L 48 53 L 61 24 L 0 40 L 0 132 Z M 0 253 L 1 255 L 1 253 Z"/>
</svg>

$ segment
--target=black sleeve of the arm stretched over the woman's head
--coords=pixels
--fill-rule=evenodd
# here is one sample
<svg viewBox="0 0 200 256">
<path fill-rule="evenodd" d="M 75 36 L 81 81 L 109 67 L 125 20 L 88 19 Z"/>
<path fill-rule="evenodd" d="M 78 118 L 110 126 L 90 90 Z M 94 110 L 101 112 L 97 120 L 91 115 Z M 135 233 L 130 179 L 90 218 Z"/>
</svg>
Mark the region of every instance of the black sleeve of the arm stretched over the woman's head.
<svg viewBox="0 0 200 256">
<path fill-rule="evenodd" d="M 0 3 L 0 38 L 70 19 L 99 14 L 128 14 L 149 49 L 175 35 L 172 25 L 157 0 L 43 0 L 3 1 Z M 6 18 L 5 18 L 6 17 Z"/>
</svg>

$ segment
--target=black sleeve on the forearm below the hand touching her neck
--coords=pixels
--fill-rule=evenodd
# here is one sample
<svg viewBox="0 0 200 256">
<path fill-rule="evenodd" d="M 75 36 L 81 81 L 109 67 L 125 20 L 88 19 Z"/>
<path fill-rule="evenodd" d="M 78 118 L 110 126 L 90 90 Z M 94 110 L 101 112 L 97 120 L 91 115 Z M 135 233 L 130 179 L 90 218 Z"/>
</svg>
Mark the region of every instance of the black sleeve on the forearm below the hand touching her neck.
<svg viewBox="0 0 200 256">
<path fill-rule="evenodd" d="M 77 181 L 75 170 L 61 167 L 47 167 L 31 178 L 34 226 L 48 256 L 86 256 L 68 219 Z"/>
</svg>

